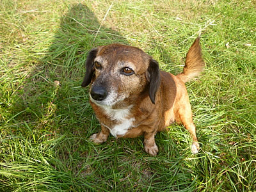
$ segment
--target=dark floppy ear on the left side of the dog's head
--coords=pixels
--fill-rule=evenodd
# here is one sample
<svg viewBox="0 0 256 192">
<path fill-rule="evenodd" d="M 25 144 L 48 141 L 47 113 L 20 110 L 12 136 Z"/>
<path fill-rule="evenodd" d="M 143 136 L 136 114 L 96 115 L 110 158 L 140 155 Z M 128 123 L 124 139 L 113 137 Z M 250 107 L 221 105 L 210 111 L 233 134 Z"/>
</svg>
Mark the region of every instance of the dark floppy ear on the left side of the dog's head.
<svg viewBox="0 0 256 192">
<path fill-rule="evenodd" d="M 92 77 L 93 77 L 93 74 L 95 72 L 95 68 L 94 68 L 94 59 L 96 57 L 96 54 L 98 52 L 98 49 L 95 48 L 95 49 L 92 49 L 88 56 L 87 56 L 87 59 L 86 59 L 86 72 L 85 72 L 85 76 L 84 76 L 84 81 L 82 83 L 82 86 L 85 87 L 85 86 L 88 86 L 88 84 L 91 83 L 92 81 Z"/>
</svg>

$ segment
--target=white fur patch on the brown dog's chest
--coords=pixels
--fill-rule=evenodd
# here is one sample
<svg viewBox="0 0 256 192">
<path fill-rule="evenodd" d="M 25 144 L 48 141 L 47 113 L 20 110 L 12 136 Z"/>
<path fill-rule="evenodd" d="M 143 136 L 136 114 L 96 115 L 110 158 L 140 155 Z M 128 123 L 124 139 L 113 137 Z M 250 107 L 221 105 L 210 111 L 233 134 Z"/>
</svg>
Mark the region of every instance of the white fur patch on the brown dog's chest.
<svg viewBox="0 0 256 192">
<path fill-rule="evenodd" d="M 111 120 L 116 120 L 117 124 L 113 125 L 113 127 L 107 127 L 110 131 L 110 133 L 113 136 L 123 136 L 125 133 L 129 130 L 129 128 L 133 127 L 133 122 L 135 118 L 128 118 L 128 116 L 131 114 L 130 109 L 132 106 L 129 106 L 125 109 L 111 109 L 111 108 L 104 108 L 104 112 L 106 115 L 109 116 Z"/>
</svg>

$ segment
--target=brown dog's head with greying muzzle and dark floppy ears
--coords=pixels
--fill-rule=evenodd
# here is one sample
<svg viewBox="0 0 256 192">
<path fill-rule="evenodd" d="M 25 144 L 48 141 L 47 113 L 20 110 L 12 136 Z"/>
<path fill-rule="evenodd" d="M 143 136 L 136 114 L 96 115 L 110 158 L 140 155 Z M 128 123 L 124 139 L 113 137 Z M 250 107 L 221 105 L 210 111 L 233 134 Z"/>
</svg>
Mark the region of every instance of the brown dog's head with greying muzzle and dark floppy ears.
<svg viewBox="0 0 256 192">
<path fill-rule="evenodd" d="M 155 103 L 160 85 L 159 65 L 136 47 L 120 44 L 97 47 L 88 54 L 82 86 L 91 82 L 90 99 L 100 106 L 113 106 L 135 95 L 140 97 L 145 91 Z"/>
</svg>

